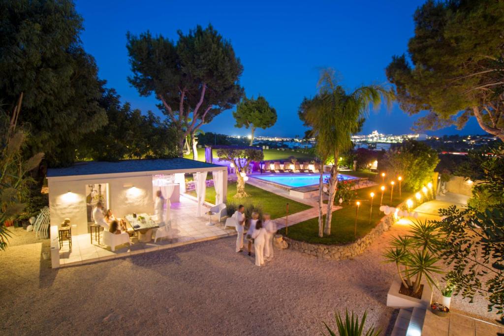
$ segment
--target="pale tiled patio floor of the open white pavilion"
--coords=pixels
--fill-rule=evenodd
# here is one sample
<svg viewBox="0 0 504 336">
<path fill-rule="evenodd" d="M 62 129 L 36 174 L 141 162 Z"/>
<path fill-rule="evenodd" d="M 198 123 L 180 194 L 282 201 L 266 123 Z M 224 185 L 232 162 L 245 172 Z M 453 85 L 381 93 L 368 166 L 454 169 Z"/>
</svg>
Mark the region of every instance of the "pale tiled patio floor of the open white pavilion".
<svg viewBox="0 0 504 336">
<path fill-rule="evenodd" d="M 196 217 L 196 201 L 191 198 L 180 196 L 180 203 L 171 205 L 171 227 L 174 230 L 173 238 L 158 239 L 157 243 L 139 243 L 136 237 L 132 238 L 133 245 L 127 244 L 116 246 L 112 252 L 109 246 L 98 245 L 93 241 L 91 244 L 90 234 L 72 236 L 72 249 L 65 244 L 59 251 L 59 265 L 71 266 L 82 263 L 95 262 L 120 258 L 128 255 L 155 251 L 158 249 L 171 248 L 199 241 L 216 239 L 236 233 L 234 228 L 224 230 L 223 223 L 207 226 L 208 216 Z M 216 219 L 213 219 L 216 222 Z"/>
</svg>

